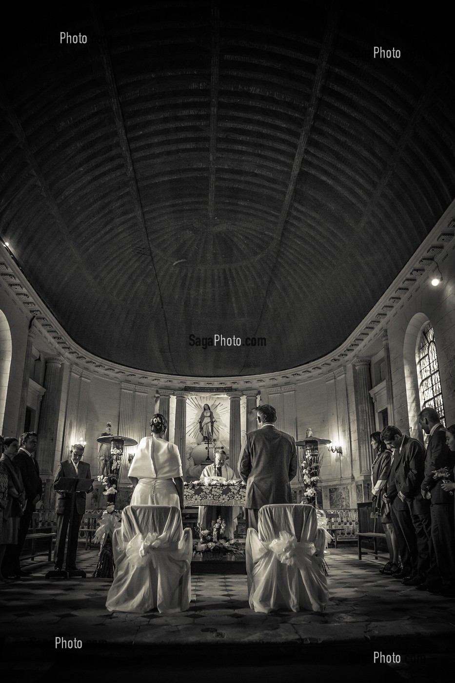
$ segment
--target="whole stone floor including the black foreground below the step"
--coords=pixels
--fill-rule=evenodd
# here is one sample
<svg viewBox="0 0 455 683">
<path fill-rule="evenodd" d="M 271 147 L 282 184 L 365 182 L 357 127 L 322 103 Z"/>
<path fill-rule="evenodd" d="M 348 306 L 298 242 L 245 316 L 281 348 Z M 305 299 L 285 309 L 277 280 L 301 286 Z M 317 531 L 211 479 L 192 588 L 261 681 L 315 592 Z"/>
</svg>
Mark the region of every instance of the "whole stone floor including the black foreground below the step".
<svg viewBox="0 0 455 683">
<path fill-rule="evenodd" d="M 42 679 L 34 678 L 39 681 L 61 662 L 74 660 L 89 673 L 102 669 L 101 661 L 105 666 L 115 659 L 103 680 L 120 680 L 122 671 L 130 671 L 131 658 L 134 670 L 146 673 L 152 657 L 154 670 L 169 681 L 173 674 L 186 681 L 194 675 L 202 683 L 212 680 L 214 671 L 217 681 L 232 681 L 234 670 L 238 680 L 250 681 L 264 678 L 267 670 L 274 676 L 313 671 L 319 680 L 325 673 L 340 678 L 343 671 L 349 678 L 367 675 L 369 681 L 386 677 L 388 683 L 421 680 L 435 664 L 452 662 L 455 600 L 404 587 L 378 573 L 385 558 L 368 554 L 359 561 L 353 547 L 333 549 L 327 557 L 331 597 L 324 613 L 255 613 L 248 604 L 246 576 L 224 574 L 193 576 L 185 613 L 109 613 L 105 600 L 111 582 L 88 578 L 96 549 L 79 549 L 85 580 L 46 581 L 51 566 L 39 559 L 44 557 L 23 563 L 29 576 L 0 588 L 2 665 L 19 678 L 30 662 L 41 671 Z M 82 650 L 56 650 L 56 637 L 81 640 Z M 399 655 L 401 661 L 374 663 L 374 652 Z M 223 653 L 223 667 L 214 653 Z"/>
</svg>

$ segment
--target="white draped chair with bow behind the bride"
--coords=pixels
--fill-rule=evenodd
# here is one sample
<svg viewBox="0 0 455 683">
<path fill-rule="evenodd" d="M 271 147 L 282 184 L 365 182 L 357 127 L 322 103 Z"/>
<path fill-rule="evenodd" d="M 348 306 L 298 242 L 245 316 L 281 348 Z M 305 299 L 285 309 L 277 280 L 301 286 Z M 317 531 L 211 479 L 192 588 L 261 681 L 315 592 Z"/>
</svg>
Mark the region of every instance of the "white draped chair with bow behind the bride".
<svg viewBox="0 0 455 683">
<path fill-rule="evenodd" d="M 169 505 L 130 505 L 113 533 L 114 579 L 109 611 L 182 612 L 191 600 L 193 538 L 180 510 Z"/>
</svg>

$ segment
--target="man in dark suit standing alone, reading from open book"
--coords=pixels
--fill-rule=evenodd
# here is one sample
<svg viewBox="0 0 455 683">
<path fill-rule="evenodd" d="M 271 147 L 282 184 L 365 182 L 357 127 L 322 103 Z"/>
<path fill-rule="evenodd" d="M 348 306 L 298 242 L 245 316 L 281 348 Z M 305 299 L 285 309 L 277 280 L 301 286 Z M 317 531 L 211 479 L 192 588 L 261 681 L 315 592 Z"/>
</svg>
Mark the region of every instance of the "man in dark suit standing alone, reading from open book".
<svg viewBox="0 0 455 683">
<path fill-rule="evenodd" d="M 84 446 L 81 443 L 76 443 L 71 447 L 70 458 L 62 460 L 58 466 L 57 473 L 54 480 L 54 490 L 57 491 L 58 497 L 55 510 L 57 512 L 57 538 L 55 540 L 54 550 L 54 564 L 56 570 L 63 569 L 65 557 L 66 534 L 68 532 L 68 525 L 71 516 L 71 494 L 59 490 L 59 481 L 62 477 L 74 477 L 77 479 L 92 479 L 90 474 L 90 466 L 87 462 L 81 462 L 84 454 Z M 92 488 L 89 491 L 93 490 Z M 68 570 L 77 570 L 76 555 L 77 555 L 77 538 L 79 534 L 79 526 L 81 525 L 81 517 L 85 512 L 85 492 L 77 492 L 74 499 L 74 510 L 72 516 L 72 526 L 68 534 L 68 549 L 66 550 L 66 565 Z"/>
</svg>

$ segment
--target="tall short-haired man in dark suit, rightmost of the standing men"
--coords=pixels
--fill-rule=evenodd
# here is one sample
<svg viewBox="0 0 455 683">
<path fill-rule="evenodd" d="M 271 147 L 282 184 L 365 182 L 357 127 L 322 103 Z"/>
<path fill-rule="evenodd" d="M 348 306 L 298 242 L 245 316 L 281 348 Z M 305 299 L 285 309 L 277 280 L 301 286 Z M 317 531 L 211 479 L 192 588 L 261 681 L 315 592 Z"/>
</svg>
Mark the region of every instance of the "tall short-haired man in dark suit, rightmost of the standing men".
<svg viewBox="0 0 455 683">
<path fill-rule="evenodd" d="M 428 590 L 440 593 L 455 589 L 455 543 L 453 502 L 450 493 L 443 490 L 433 472 L 454 466 L 450 448 L 445 442 L 445 428 L 435 408 L 424 408 L 419 414 L 419 425 L 430 437 L 425 454 L 425 477 L 422 498 L 430 500 L 431 538 L 435 546 L 437 566 L 428 576 Z"/>
</svg>

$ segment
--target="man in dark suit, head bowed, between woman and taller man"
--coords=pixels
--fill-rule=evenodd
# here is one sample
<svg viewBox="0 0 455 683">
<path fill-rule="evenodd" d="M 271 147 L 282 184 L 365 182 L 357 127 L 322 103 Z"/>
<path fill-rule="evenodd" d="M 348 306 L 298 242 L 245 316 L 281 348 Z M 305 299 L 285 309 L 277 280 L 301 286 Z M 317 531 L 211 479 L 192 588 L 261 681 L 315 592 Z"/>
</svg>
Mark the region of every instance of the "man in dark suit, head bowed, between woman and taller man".
<svg viewBox="0 0 455 683">
<path fill-rule="evenodd" d="M 403 436 L 394 426 L 388 426 L 381 437 L 391 451 L 391 477 L 387 482 L 391 518 L 398 538 L 402 570 L 396 574 L 405 585 L 425 583 L 427 572 L 435 563 L 431 542 L 430 506 L 420 495 L 424 479 L 425 451 L 415 438 Z"/>
</svg>

